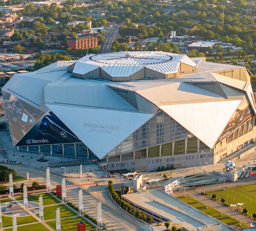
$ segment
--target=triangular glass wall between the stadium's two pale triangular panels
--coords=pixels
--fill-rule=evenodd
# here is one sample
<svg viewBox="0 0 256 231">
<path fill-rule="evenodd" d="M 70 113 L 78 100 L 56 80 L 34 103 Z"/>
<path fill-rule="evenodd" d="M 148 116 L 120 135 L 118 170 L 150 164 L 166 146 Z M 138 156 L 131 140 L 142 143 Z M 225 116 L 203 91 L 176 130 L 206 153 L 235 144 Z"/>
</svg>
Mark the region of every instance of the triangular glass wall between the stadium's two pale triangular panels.
<svg viewBox="0 0 256 231">
<path fill-rule="evenodd" d="M 166 144 L 172 141 L 184 140 L 192 136 L 193 135 L 184 127 L 160 110 L 155 116 L 143 124 L 143 126 L 116 146 L 109 153 L 109 156 L 142 150 L 147 147 L 154 147 L 159 144 Z M 181 148 L 179 152 L 182 152 L 182 150 L 184 151 L 185 147 Z M 152 150 L 152 152 L 153 155 L 157 155 L 154 150 Z M 167 155 L 167 152 L 168 151 L 164 151 L 163 155 Z"/>
</svg>

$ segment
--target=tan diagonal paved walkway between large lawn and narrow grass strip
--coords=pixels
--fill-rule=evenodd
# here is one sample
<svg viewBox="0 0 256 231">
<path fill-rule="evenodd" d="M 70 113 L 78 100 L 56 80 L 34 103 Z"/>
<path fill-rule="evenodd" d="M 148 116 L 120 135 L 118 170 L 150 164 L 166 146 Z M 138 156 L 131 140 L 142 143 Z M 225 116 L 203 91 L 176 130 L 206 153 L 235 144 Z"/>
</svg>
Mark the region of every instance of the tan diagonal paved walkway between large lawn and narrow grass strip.
<svg viewBox="0 0 256 231">
<path fill-rule="evenodd" d="M 209 196 L 202 195 L 197 190 L 186 191 L 186 195 L 192 196 L 198 201 L 220 211 L 223 214 L 226 214 L 234 219 L 237 219 L 239 222 L 244 223 L 249 227 L 250 227 L 250 223 L 255 221 L 254 219 L 244 216 L 243 214 L 241 214 L 240 212 L 237 212 L 236 210 L 233 211 L 231 207 L 221 205 L 219 202 L 212 200 Z"/>
</svg>

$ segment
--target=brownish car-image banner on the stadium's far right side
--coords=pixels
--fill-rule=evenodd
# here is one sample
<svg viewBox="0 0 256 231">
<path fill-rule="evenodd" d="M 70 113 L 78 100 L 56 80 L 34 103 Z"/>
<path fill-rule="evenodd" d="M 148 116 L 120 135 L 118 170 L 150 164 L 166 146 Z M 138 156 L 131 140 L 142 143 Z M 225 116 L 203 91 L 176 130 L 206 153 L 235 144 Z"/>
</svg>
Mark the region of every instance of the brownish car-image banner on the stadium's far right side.
<svg viewBox="0 0 256 231">
<path fill-rule="evenodd" d="M 233 133 L 233 131 L 235 131 L 252 116 L 253 110 L 250 106 L 250 102 L 248 101 L 247 97 L 244 97 L 235 113 L 233 113 L 232 117 L 228 121 L 227 126 L 224 128 L 216 144 Z"/>
</svg>

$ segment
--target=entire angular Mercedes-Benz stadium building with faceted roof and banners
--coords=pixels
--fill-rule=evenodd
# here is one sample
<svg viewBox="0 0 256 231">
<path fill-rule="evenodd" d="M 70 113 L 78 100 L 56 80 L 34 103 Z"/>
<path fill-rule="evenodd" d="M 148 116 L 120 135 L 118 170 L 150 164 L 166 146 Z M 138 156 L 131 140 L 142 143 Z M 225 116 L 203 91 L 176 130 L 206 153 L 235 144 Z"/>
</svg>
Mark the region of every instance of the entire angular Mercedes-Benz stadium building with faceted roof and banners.
<svg viewBox="0 0 256 231">
<path fill-rule="evenodd" d="M 250 72 L 167 52 L 58 61 L 2 88 L 18 151 L 107 170 L 213 164 L 255 138 Z"/>
</svg>

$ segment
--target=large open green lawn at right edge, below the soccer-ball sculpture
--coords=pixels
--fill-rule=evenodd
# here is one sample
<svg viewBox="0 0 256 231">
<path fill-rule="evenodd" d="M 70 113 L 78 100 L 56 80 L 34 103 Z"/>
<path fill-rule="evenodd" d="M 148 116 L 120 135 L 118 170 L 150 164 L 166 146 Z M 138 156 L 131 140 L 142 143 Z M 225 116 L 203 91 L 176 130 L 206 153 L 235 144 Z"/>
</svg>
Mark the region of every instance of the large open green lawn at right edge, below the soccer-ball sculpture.
<svg viewBox="0 0 256 231">
<path fill-rule="evenodd" d="M 214 191 L 214 193 L 217 195 L 218 200 L 224 198 L 229 205 L 244 203 L 244 208 L 248 209 L 249 215 L 256 213 L 256 184 L 225 188 L 225 190 Z M 208 192 L 207 194 L 211 195 L 212 192 Z"/>
</svg>

